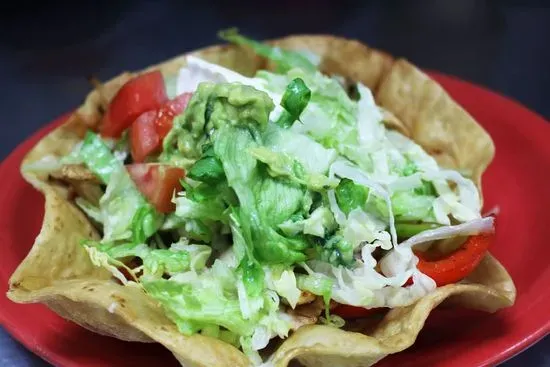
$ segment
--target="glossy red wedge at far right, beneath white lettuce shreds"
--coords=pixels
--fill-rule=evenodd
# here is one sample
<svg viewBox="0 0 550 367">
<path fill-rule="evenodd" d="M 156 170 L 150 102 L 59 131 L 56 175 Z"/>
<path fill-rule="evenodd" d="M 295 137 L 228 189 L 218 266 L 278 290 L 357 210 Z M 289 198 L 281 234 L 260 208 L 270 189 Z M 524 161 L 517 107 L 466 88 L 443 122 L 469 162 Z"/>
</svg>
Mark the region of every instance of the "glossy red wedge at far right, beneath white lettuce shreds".
<svg viewBox="0 0 550 367">
<path fill-rule="evenodd" d="M 459 249 L 441 259 L 428 259 L 425 254 L 416 252 L 418 270 L 432 278 L 438 287 L 456 283 L 474 271 L 493 239 L 494 234 L 470 236 Z"/>
</svg>

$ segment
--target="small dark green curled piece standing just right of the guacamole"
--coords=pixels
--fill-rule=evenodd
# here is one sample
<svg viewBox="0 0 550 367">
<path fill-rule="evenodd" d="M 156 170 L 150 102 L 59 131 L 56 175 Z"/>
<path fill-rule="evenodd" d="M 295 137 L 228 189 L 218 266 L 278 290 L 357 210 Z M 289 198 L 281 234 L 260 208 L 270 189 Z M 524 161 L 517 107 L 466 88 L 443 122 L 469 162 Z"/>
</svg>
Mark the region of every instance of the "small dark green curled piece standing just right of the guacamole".
<svg viewBox="0 0 550 367">
<path fill-rule="evenodd" d="M 300 115 L 309 103 L 310 98 L 311 91 L 304 81 L 300 78 L 292 80 L 286 87 L 285 94 L 283 94 L 281 106 L 285 111 L 277 120 L 277 125 L 284 129 L 291 127 L 294 121 L 300 119 Z"/>
</svg>

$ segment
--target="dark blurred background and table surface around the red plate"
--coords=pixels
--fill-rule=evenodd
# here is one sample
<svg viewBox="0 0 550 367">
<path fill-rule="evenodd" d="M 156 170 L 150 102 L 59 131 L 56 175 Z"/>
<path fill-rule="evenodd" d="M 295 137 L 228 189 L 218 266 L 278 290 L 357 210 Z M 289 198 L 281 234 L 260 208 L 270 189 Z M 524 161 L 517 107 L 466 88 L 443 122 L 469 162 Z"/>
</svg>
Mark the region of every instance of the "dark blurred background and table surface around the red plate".
<svg viewBox="0 0 550 367">
<path fill-rule="evenodd" d="M 0 5 L 2 159 L 108 79 L 218 42 L 331 33 L 475 82 L 550 118 L 550 1 L 42 1 Z M 521 126 L 521 121 L 518 121 Z M 42 366 L 0 328 L 1 366 Z M 505 366 L 550 366 L 548 338 Z"/>
</svg>

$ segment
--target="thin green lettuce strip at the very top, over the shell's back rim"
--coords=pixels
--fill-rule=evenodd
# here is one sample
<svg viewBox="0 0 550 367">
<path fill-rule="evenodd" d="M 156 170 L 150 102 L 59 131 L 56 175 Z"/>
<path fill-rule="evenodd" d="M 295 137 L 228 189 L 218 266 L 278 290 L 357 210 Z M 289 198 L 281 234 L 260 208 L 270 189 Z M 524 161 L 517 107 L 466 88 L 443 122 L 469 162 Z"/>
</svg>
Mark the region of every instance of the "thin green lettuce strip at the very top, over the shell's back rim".
<svg viewBox="0 0 550 367">
<path fill-rule="evenodd" d="M 317 67 L 302 53 L 283 50 L 279 47 L 272 47 L 265 43 L 254 41 L 240 35 L 236 28 L 220 31 L 218 36 L 225 41 L 250 47 L 258 55 L 273 60 L 277 63 L 279 72 L 284 73 L 292 68 L 301 68 L 307 72 L 314 72 L 317 70 Z"/>
</svg>

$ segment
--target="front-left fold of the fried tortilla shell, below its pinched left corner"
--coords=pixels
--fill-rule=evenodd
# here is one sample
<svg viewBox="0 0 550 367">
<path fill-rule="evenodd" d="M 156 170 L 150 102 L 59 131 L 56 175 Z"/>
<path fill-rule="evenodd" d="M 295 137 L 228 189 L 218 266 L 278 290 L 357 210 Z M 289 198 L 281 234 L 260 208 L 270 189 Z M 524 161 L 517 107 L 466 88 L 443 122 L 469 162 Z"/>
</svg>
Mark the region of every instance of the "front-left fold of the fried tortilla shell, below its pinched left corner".
<svg viewBox="0 0 550 367">
<path fill-rule="evenodd" d="M 102 335 L 160 342 L 186 366 L 246 365 L 246 357 L 230 344 L 201 335 L 183 336 L 142 288 L 122 286 L 110 272 L 95 267 L 79 245 L 82 239 L 99 239 L 94 227 L 57 190 L 44 186 L 43 192 L 44 224 L 10 280 L 11 300 L 45 303 L 60 316 Z"/>
</svg>

